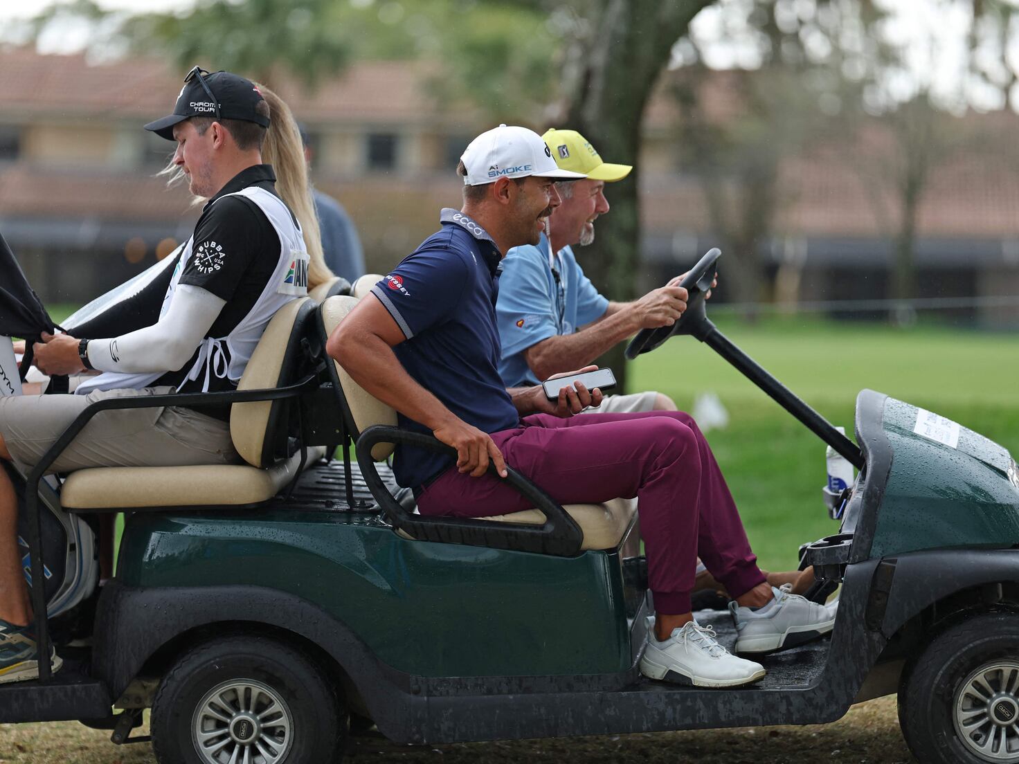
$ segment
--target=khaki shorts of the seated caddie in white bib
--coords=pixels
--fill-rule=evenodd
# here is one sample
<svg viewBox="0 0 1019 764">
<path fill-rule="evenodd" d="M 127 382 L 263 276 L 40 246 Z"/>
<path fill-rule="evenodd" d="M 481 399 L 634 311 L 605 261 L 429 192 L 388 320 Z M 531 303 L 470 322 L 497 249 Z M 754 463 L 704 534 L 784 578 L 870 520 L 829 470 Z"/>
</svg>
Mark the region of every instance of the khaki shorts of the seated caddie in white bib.
<svg viewBox="0 0 1019 764">
<path fill-rule="evenodd" d="M 165 395 L 172 387 L 96 390 L 88 395 L 0 397 L 0 436 L 24 474 L 91 403 L 111 397 Z M 230 427 L 191 408 L 154 406 L 100 412 L 47 471 L 92 467 L 237 463 Z"/>
</svg>

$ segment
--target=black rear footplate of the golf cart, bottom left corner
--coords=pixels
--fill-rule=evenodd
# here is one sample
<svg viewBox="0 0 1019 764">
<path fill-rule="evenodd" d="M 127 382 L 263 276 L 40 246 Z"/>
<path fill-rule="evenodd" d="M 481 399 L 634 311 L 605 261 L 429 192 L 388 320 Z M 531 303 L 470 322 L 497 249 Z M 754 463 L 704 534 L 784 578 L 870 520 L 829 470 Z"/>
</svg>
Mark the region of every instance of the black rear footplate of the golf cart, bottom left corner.
<svg viewBox="0 0 1019 764">
<path fill-rule="evenodd" d="M 0 723 L 102 718 L 112 705 L 106 686 L 70 657 L 45 685 L 38 679 L 0 685 Z"/>
</svg>

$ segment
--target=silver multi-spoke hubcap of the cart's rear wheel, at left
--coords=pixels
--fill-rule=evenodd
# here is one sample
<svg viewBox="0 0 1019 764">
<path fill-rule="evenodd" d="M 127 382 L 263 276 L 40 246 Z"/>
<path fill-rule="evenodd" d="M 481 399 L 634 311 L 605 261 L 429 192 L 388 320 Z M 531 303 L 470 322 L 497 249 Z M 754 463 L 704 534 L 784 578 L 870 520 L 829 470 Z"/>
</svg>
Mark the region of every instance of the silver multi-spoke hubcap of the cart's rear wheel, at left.
<svg viewBox="0 0 1019 764">
<path fill-rule="evenodd" d="M 290 709 L 276 691 L 254 679 L 214 687 L 192 724 L 204 764 L 278 764 L 293 739 Z"/>
</svg>

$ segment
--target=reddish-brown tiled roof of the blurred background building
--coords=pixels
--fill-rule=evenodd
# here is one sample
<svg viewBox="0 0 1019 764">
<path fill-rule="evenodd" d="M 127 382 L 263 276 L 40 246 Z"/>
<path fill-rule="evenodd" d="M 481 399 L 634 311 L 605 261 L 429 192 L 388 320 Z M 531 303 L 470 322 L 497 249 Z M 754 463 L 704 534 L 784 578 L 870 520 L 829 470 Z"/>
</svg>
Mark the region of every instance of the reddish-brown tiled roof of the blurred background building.
<svg viewBox="0 0 1019 764">
<path fill-rule="evenodd" d="M 168 111 L 182 73 L 153 59 L 89 65 L 84 56 L 42 56 L 25 49 L 0 49 L 0 120 L 4 121 L 152 119 Z M 287 80 L 274 83 L 274 88 L 300 118 L 323 128 L 439 125 L 445 120 L 447 124 L 455 121 L 459 132 L 470 129 L 464 125 L 473 123 L 472 112 L 440 108 L 427 77 L 419 64 L 359 62 L 335 79 L 323 81 L 314 94 Z M 675 117 L 672 102 L 660 95 L 661 88 L 648 110 L 649 129 L 659 140 L 667 134 Z M 736 108 L 725 75 L 718 75 L 711 90 L 715 108 L 725 113 Z M 1019 116 L 1012 113 L 967 119 L 983 120 L 1002 137 L 1019 134 Z M 879 156 L 876 149 L 874 156 Z M 940 161 L 920 207 L 919 233 L 1019 237 L 1019 171 L 1006 159 L 996 161 L 986 152 L 971 151 Z M 780 200 L 775 232 L 889 235 L 875 214 L 875 209 L 881 210 L 895 219 L 897 200 L 889 190 L 889 178 L 883 178 L 883 187 L 866 181 L 855 161 L 845 146 L 828 146 L 787 161 L 782 172 L 788 198 Z M 181 216 L 193 212 L 186 192 L 168 192 L 147 172 L 57 171 L 21 163 L 0 167 L 0 216 L 91 216 L 179 224 Z M 443 177 L 448 180 L 447 175 Z M 407 241 L 417 243 L 431 230 L 441 205 L 434 193 L 421 189 L 446 187 L 428 178 L 372 176 L 329 181 L 323 185 L 338 192 L 347 203 L 366 242 L 394 250 L 405 248 Z M 449 194 L 443 190 L 440 196 L 455 202 L 455 186 L 449 184 Z M 704 233 L 710 229 L 696 178 L 668 167 L 647 166 L 642 192 L 642 218 L 648 232 Z M 448 201 L 443 199 L 443 203 Z M 376 235 L 376 230 L 387 233 Z M 400 239 L 398 244 L 395 238 Z"/>
</svg>

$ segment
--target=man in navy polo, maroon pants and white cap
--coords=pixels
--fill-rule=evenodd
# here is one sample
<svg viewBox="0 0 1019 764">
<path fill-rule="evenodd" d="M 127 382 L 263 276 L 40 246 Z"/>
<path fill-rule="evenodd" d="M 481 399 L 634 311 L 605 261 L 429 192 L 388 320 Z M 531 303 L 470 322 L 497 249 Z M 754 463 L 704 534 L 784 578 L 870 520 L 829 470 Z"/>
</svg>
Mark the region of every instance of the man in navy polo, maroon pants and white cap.
<svg viewBox="0 0 1019 764">
<path fill-rule="evenodd" d="M 574 417 L 599 404 L 600 391 L 565 387 L 553 403 L 540 385 L 502 387 L 499 261 L 513 247 L 538 241 L 560 201 L 554 181 L 582 176 L 559 169 L 537 133 L 505 125 L 475 139 L 458 172 L 463 210 L 442 211 L 441 230 L 375 285 L 326 348 L 369 394 L 399 413 L 401 426 L 457 449 L 455 465 L 421 449 L 398 452 L 396 478 L 414 489 L 421 513 L 529 508 L 486 475 L 489 461 L 501 477 L 509 463 L 562 504 L 636 496 L 655 606 L 641 670 L 653 678 L 679 674 L 698 686 L 733 687 L 764 675 L 763 666 L 730 654 L 694 619 L 698 552 L 736 597 L 738 650 L 769 652 L 790 635 L 830 631 L 833 609 L 766 585 L 689 415 Z"/>
</svg>

